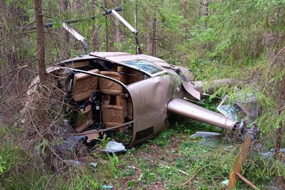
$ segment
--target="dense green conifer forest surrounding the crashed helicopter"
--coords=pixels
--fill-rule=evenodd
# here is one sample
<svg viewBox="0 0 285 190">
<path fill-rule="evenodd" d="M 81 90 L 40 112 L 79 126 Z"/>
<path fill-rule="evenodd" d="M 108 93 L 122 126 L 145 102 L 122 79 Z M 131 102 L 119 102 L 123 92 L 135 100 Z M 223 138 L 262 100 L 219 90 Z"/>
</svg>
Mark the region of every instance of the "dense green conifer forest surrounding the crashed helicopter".
<svg viewBox="0 0 285 190">
<path fill-rule="evenodd" d="M 261 140 L 274 148 L 276 161 L 262 165 L 262 172 L 284 179 L 284 0 L 0 0 L 0 186 L 99 188 L 99 175 L 88 166 L 66 167 L 50 144 L 55 126 L 62 122 L 54 108 L 61 111 L 57 102 L 64 95 L 56 91 L 45 67 L 85 54 L 80 42 L 61 27 L 62 20 L 71 18 L 82 19 L 69 26 L 87 39 L 89 51 L 135 54 L 133 34 L 111 15 L 100 14 L 118 6 L 123 8 L 119 14 L 139 31 L 144 54 L 187 66 L 196 79 L 209 84 L 225 77 L 243 81 L 244 94 L 253 93 L 259 100 Z M 83 19 L 92 15 L 94 20 Z M 42 22 L 56 24 L 43 28 Z M 37 30 L 12 31 L 10 26 Z M 26 91 L 37 74 L 40 90 L 23 118 Z M 234 99 L 234 87 L 220 88 L 214 96 L 227 93 Z M 65 156 L 74 159 L 86 153 Z M 110 159 L 117 163 L 116 157 Z"/>
</svg>

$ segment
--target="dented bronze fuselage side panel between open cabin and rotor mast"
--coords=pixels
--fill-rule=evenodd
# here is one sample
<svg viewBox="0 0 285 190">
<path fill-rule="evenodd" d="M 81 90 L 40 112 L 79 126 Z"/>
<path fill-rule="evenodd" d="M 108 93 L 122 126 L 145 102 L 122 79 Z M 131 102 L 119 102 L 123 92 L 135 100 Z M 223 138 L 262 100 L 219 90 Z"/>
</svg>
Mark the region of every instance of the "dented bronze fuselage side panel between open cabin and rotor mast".
<svg viewBox="0 0 285 190">
<path fill-rule="evenodd" d="M 135 136 L 138 131 L 153 126 L 154 134 L 164 130 L 164 120 L 167 118 L 167 103 L 170 101 L 172 90 L 170 76 L 156 76 L 127 86 L 133 104 L 133 136 L 130 143 L 136 146 Z"/>
</svg>

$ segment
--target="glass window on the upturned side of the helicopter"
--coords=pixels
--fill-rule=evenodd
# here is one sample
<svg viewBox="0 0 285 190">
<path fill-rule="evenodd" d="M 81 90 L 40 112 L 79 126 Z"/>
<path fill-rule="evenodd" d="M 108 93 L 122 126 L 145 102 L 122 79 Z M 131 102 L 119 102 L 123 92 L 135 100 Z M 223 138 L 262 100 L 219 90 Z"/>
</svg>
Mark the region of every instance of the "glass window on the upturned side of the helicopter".
<svg viewBox="0 0 285 190">
<path fill-rule="evenodd" d="M 128 61 L 122 61 L 122 62 L 128 65 L 138 67 L 151 75 L 163 71 L 161 67 L 157 66 L 156 64 L 150 61 L 144 60 L 144 59 L 134 59 L 134 60 L 128 60 Z"/>
</svg>

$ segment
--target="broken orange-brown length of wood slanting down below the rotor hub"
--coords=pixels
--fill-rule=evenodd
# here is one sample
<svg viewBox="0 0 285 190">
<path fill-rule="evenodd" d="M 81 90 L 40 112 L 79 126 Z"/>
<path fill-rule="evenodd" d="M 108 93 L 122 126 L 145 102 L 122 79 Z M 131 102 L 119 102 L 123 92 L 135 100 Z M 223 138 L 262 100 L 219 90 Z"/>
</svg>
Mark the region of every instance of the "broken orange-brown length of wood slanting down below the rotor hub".
<svg viewBox="0 0 285 190">
<path fill-rule="evenodd" d="M 228 190 L 232 190 L 235 187 L 235 185 L 237 184 L 238 177 L 236 176 L 235 172 L 240 173 L 241 168 L 243 167 L 243 164 L 246 160 L 246 155 L 248 153 L 249 148 L 250 148 L 250 134 L 246 134 L 246 139 L 244 140 L 240 154 L 238 155 L 238 160 L 235 163 L 235 166 L 234 166 L 234 169 L 232 170 L 232 173 L 230 173 L 230 175 L 229 175 Z"/>
</svg>

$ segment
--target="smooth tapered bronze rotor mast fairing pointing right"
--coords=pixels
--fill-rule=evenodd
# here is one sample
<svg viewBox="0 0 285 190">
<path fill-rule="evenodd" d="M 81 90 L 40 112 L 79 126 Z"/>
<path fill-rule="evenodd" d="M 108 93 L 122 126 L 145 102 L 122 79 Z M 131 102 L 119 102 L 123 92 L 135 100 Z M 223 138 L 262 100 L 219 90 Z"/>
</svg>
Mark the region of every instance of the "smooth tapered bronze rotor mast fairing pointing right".
<svg viewBox="0 0 285 190">
<path fill-rule="evenodd" d="M 224 115 L 178 98 L 172 99 L 168 103 L 167 111 L 228 130 L 232 130 L 237 123 Z"/>
</svg>

